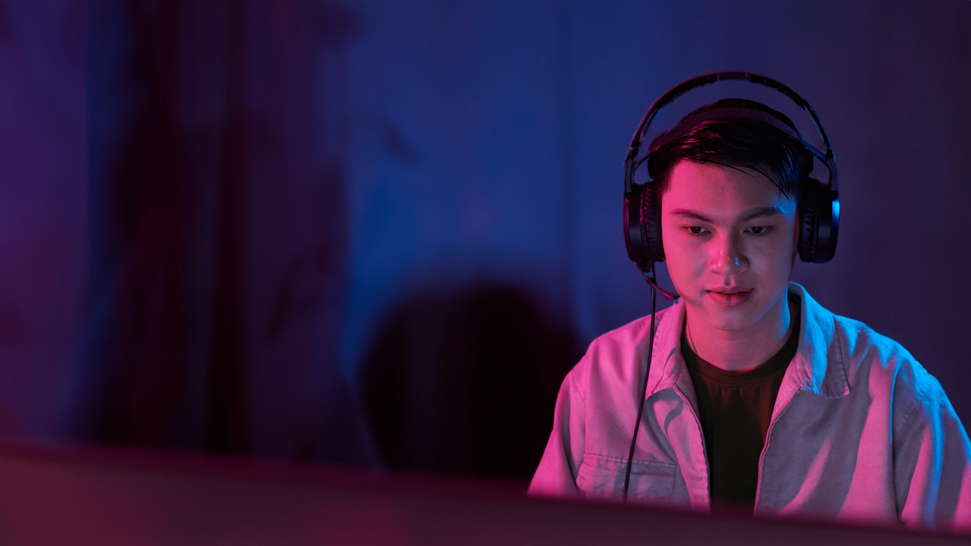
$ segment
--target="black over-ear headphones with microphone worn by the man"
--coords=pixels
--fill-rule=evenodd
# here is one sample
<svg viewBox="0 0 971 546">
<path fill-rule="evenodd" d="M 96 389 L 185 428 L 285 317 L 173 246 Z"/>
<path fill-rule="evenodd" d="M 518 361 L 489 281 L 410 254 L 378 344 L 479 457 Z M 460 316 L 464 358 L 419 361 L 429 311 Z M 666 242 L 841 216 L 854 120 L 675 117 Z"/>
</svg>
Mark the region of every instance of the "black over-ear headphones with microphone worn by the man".
<svg viewBox="0 0 971 546">
<path fill-rule="evenodd" d="M 658 138 L 647 154 L 638 159 L 637 154 L 644 144 L 648 128 L 661 108 L 674 102 L 691 89 L 722 80 L 741 80 L 765 85 L 785 94 L 800 108 L 813 116 L 825 145 L 825 152 L 820 152 L 815 146 L 806 142 L 806 139 L 802 138 L 796 128 L 787 121 L 776 118 L 768 112 L 754 108 L 724 107 L 682 119 L 671 131 Z M 683 137 L 701 121 L 725 118 L 757 119 L 767 122 L 786 133 L 789 138 L 803 146 L 810 154 L 818 157 L 826 165 L 826 169 L 829 170 L 829 180 L 826 181 L 826 184 L 808 177 L 802 181 L 802 198 L 799 204 L 798 250 L 799 257 L 803 261 L 816 263 L 829 261 L 836 253 L 836 235 L 840 224 L 836 157 L 833 155 L 833 150 L 829 146 L 829 138 L 826 136 L 826 131 L 822 128 L 820 118 L 816 115 L 813 107 L 786 85 L 761 74 L 753 72 L 709 72 L 701 74 L 671 87 L 654 101 L 648 113 L 644 115 L 644 119 L 641 120 L 641 124 L 637 127 L 637 132 L 634 133 L 634 138 L 630 141 L 627 158 L 623 162 L 623 236 L 627 244 L 627 256 L 630 256 L 630 259 L 637 264 L 648 284 L 668 299 L 674 299 L 678 296 L 659 289 L 653 278 L 654 263 L 664 261 L 657 196 L 654 194 L 652 181 L 645 184 L 634 183 L 634 171 L 639 165 L 646 162 L 657 149 Z"/>
</svg>

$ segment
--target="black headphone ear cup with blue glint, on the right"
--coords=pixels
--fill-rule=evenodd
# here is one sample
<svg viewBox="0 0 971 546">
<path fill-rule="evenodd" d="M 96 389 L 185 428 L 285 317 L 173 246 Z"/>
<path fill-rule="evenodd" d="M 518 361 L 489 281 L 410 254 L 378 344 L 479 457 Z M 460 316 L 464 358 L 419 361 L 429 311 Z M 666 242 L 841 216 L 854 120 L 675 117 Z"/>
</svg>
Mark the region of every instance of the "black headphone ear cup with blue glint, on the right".
<svg viewBox="0 0 971 546">
<path fill-rule="evenodd" d="M 799 258 L 812 263 L 832 259 L 839 224 L 839 192 L 825 188 L 818 180 L 807 179 L 799 205 Z"/>
</svg>

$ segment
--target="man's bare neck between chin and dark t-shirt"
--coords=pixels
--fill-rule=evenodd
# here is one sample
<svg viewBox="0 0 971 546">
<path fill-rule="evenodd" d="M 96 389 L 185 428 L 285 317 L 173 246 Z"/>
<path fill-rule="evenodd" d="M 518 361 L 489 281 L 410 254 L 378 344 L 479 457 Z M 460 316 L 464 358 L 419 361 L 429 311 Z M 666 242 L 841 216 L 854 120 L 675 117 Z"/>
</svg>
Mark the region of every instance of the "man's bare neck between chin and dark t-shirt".
<svg viewBox="0 0 971 546">
<path fill-rule="evenodd" d="M 698 358 L 724 371 L 748 371 L 758 367 L 786 344 L 792 324 L 786 293 L 758 323 L 744 330 L 715 328 L 701 319 L 692 320 L 690 308 L 685 311 L 691 350 Z"/>
</svg>

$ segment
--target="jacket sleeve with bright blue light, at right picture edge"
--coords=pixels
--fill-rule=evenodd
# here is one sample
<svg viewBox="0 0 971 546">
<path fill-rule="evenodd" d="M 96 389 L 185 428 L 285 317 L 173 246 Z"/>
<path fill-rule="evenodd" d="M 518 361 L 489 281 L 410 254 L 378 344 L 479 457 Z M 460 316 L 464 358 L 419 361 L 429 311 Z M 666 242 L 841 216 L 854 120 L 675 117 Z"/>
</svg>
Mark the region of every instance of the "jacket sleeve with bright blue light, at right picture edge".
<svg viewBox="0 0 971 546">
<path fill-rule="evenodd" d="M 898 517 L 909 527 L 966 532 L 971 442 L 941 384 L 926 372 L 918 375 L 917 403 L 894 434 Z"/>
</svg>

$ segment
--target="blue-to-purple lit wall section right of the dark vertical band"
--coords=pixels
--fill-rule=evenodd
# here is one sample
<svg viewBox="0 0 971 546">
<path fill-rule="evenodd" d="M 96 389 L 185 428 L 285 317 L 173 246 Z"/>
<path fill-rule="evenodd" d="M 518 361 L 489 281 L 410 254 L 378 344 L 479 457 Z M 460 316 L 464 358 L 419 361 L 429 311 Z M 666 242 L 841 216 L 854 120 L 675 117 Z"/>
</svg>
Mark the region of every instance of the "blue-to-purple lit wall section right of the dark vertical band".
<svg viewBox="0 0 971 546">
<path fill-rule="evenodd" d="M 959 277 L 971 212 L 967 3 L 356 9 L 367 22 L 351 53 L 364 120 L 349 171 L 349 373 L 381 338 L 385 310 L 428 287 L 512 283 L 581 347 L 646 314 L 649 291 L 620 237 L 630 135 L 669 86 L 745 69 L 806 97 L 839 159 L 839 250 L 797 262 L 793 280 L 900 341 L 971 420 L 960 342 L 971 300 Z"/>
</svg>

